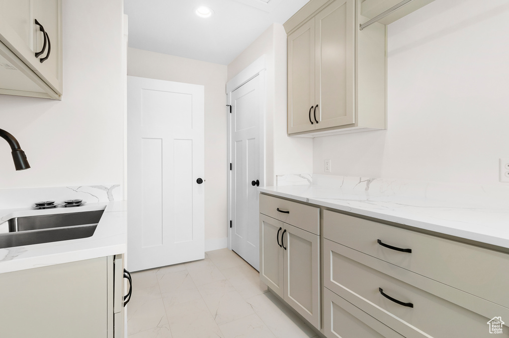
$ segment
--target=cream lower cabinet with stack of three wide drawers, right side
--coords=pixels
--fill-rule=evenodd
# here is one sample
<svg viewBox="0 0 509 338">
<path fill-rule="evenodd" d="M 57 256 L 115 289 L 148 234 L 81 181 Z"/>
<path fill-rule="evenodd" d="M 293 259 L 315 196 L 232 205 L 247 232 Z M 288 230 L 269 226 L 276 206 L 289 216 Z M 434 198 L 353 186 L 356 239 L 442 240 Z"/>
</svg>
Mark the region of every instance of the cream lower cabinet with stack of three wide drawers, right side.
<svg viewBox="0 0 509 338">
<path fill-rule="evenodd" d="M 431 235 L 423 239 L 421 233 L 328 210 L 324 211 L 323 222 L 327 337 L 399 337 L 400 334 L 407 338 L 489 337 L 492 325 L 509 318 L 509 309 L 484 298 L 490 296 L 484 287 L 496 288 L 500 281 L 489 280 L 490 284 L 483 275 L 475 276 L 479 269 L 474 254 L 493 257 L 492 261 L 485 260 L 488 270 L 509 266 L 509 255 L 460 243 L 463 255 L 457 256 L 453 250 L 458 246 L 455 241 Z M 368 222 L 369 230 L 363 228 Z M 434 240 L 436 245 L 433 248 L 422 245 L 425 240 Z M 433 250 L 440 250 L 442 255 L 435 255 Z M 465 260 L 472 262 L 470 267 Z M 446 274 L 440 270 L 444 262 L 451 266 L 448 284 L 435 279 Z M 414 272 L 425 271 L 430 265 L 436 269 L 429 269 L 426 274 Z M 469 269 L 473 269 L 469 283 L 479 284 L 477 289 L 454 278 L 465 275 L 468 271 L 462 270 Z M 501 294 L 498 301 L 504 296 Z M 342 325 L 350 325 L 345 321 L 351 316 L 342 309 L 375 332 L 350 333 Z M 501 323 L 499 328 L 499 336 L 509 336 L 509 327 Z"/>
</svg>

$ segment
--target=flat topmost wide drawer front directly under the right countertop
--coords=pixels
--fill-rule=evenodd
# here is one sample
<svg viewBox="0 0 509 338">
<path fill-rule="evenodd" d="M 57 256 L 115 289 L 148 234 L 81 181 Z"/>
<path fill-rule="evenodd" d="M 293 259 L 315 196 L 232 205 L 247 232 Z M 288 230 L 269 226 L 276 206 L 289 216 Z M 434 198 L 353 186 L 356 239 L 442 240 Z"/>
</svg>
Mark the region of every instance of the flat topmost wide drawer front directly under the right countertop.
<svg viewBox="0 0 509 338">
<path fill-rule="evenodd" d="M 324 237 L 509 308 L 507 254 L 329 210 Z"/>
</svg>

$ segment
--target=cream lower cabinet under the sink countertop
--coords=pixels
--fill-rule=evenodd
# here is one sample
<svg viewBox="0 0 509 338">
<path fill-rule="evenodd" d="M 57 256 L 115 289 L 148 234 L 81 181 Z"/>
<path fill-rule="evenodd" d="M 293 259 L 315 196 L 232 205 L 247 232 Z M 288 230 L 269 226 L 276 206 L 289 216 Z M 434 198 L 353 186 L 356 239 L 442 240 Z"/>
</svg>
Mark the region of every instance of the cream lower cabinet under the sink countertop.
<svg viewBox="0 0 509 338">
<path fill-rule="evenodd" d="M 122 255 L 0 274 L 0 337 L 124 335 Z"/>
</svg>

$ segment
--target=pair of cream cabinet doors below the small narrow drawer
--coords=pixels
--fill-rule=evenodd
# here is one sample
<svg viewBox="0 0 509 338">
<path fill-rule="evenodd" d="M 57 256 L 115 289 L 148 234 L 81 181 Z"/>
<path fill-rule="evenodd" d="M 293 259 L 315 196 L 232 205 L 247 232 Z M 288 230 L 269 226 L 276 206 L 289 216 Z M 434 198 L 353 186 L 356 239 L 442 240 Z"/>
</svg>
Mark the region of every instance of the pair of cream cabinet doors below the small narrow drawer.
<svg viewBox="0 0 509 338">
<path fill-rule="evenodd" d="M 320 237 L 260 214 L 260 279 L 320 329 Z"/>
</svg>

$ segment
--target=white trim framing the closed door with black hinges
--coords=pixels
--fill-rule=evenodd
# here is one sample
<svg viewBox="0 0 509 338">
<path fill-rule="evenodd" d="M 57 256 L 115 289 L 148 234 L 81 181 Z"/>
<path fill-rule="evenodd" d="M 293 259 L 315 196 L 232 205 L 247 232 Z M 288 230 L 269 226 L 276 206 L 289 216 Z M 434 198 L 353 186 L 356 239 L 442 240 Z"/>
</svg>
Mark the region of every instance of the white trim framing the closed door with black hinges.
<svg viewBox="0 0 509 338">
<path fill-rule="evenodd" d="M 227 93 L 227 105 L 232 104 L 232 91 L 239 88 L 243 84 L 249 82 L 253 78 L 259 76 L 260 81 L 260 186 L 264 187 L 266 182 L 266 171 L 265 171 L 265 162 L 266 162 L 266 151 L 265 151 L 265 116 L 266 116 L 266 83 L 265 83 L 265 72 L 266 72 L 266 57 L 265 54 L 260 56 L 256 61 L 247 66 L 244 70 L 242 70 L 239 74 L 237 74 L 233 79 L 227 82 L 226 84 L 226 93 Z M 227 107 L 225 107 L 227 108 Z M 225 109 L 228 114 L 227 118 L 227 168 L 228 168 L 228 215 L 227 215 L 227 229 L 228 229 L 228 249 L 232 250 L 232 228 L 230 228 L 230 221 L 232 220 L 232 171 L 230 170 L 230 163 L 232 163 L 232 116 L 230 114 L 230 109 Z"/>
</svg>

